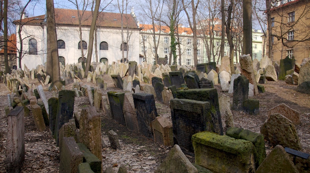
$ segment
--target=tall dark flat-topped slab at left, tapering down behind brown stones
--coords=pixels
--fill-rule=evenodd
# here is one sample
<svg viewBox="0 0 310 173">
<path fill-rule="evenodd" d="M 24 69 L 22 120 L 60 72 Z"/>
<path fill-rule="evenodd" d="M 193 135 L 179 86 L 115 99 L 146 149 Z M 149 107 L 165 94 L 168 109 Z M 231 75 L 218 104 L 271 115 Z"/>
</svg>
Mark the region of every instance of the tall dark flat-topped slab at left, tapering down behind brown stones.
<svg viewBox="0 0 310 173">
<path fill-rule="evenodd" d="M 57 144 L 59 144 L 58 133 L 61 126 L 69 122 L 69 119 L 73 118 L 74 110 L 74 91 L 71 90 L 61 90 L 58 95 L 58 108 L 55 126 L 55 139 Z"/>
</svg>

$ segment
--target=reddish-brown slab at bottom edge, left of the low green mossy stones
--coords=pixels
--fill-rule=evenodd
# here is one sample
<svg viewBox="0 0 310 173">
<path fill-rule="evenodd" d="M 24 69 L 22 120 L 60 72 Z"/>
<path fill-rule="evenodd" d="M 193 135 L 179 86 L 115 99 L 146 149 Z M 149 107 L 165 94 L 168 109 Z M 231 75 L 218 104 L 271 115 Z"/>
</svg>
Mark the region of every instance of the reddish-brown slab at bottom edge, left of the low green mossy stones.
<svg viewBox="0 0 310 173">
<path fill-rule="evenodd" d="M 83 153 L 73 137 L 63 137 L 60 154 L 60 173 L 76 173 L 78 165 L 83 162 Z"/>
</svg>

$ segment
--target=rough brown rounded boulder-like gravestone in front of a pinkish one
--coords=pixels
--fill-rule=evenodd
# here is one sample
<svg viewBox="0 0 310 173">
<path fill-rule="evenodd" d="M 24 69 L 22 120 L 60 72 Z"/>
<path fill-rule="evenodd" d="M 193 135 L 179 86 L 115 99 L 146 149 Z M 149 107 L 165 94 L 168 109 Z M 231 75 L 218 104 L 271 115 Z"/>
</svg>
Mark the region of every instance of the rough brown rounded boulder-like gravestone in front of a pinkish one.
<svg viewBox="0 0 310 173">
<path fill-rule="evenodd" d="M 280 113 L 271 114 L 260 127 L 260 133 L 272 146 L 282 145 L 298 151 L 302 149 L 294 123 Z"/>
</svg>

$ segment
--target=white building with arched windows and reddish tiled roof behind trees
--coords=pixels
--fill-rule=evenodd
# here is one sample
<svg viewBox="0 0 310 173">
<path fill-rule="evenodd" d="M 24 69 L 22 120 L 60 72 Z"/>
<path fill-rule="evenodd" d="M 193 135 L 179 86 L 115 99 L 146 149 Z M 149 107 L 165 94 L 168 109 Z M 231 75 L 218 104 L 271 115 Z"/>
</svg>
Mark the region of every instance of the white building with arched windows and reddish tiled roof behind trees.
<svg viewBox="0 0 310 173">
<path fill-rule="evenodd" d="M 85 11 L 82 17 L 82 47 L 85 58 L 88 51 L 91 20 L 91 11 Z M 136 24 L 134 15 L 124 14 L 123 20 L 124 44 L 128 45 L 128 50 L 126 50 L 127 48 L 124 45 L 124 51 L 121 50 L 121 15 L 119 13 L 99 13 L 97 19 L 98 61 L 108 61 L 112 63 L 113 61 L 121 60 L 124 52 L 124 58 L 126 58 L 127 61 L 139 62 L 140 29 Z M 21 64 L 26 64 L 29 69 L 36 68 L 37 65 L 46 62 L 46 16 L 24 18 L 21 22 L 24 24 L 21 32 L 23 40 L 23 58 Z M 20 39 L 18 37 L 19 21 L 14 21 L 14 24 L 16 24 L 16 46 L 20 47 Z M 80 37 L 77 10 L 55 8 L 55 24 L 60 62 L 65 64 L 81 62 L 82 53 L 79 44 Z M 91 62 L 93 61 L 95 61 L 95 46 L 93 47 L 91 58 Z"/>
</svg>

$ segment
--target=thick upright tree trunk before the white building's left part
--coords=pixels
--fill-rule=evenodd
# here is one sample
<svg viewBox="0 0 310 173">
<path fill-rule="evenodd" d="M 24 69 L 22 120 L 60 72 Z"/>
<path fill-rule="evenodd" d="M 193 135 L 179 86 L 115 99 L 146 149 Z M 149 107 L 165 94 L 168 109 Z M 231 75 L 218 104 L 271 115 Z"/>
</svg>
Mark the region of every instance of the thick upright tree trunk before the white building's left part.
<svg viewBox="0 0 310 173">
<path fill-rule="evenodd" d="M 58 47 L 57 47 L 57 35 L 56 35 L 56 27 L 55 27 L 55 11 L 54 11 L 54 1 L 46 0 L 46 14 L 47 14 L 47 54 L 50 54 L 49 58 L 51 60 L 47 60 L 52 64 L 47 64 L 47 68 L 52 69 L 52 86 L 56 85 L 56 87 L 61 88 L 62 84 L 60 82 L 60 67 L 59 67 L 59 57 L 58 57 Z"/>
</svg>

